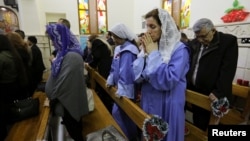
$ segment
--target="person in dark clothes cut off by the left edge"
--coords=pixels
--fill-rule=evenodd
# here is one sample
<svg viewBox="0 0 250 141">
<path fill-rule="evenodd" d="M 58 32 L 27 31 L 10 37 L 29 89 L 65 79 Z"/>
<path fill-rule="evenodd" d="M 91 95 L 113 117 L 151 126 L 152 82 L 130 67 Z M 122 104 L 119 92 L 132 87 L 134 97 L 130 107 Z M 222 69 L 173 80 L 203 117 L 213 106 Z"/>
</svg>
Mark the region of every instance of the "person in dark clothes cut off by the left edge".
<svg viewBox="0 0 250 141">
<path fill-rule="evenodd" d="M 0 141 L 7 136 L 9 105 L 20 95 L 26 95 L 22 87 L 28 79 L 23 61 L 10 40 L 0 34 Z"/>
</svg>

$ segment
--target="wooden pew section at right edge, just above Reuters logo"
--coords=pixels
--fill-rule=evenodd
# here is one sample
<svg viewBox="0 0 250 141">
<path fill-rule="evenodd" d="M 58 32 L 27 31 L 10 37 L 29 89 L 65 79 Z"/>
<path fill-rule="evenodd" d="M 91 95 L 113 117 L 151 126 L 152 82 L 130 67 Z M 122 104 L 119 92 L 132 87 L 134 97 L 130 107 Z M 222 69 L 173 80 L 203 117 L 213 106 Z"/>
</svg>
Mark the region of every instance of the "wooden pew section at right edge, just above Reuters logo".
<svg viewBox="0 0 250 141">
<path fill-rule="evenodd" d="M 228 114 L 226 114 L 223 118 L 221 118 L 221 124 L 247 124 L 250 116 L 250 87 L 240 86 L 237 84 L 233 84 L 233 95 L 236 97 L 240 97 L 245 101 L 242 101 L 245 105 L 243 107 L 243 111 L 237 109 L 237 107 L 233 107 L 230 109 Z M 232 103 L 233 105 L 234 103 Z"/>
</svg>

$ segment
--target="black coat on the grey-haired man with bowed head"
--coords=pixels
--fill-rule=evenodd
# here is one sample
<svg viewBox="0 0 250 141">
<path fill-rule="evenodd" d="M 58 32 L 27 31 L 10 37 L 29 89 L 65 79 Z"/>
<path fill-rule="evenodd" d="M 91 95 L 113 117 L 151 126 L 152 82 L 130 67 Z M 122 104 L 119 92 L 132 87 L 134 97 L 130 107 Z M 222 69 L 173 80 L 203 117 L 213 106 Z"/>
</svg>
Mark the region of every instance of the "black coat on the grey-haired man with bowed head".
<svg viewBox="0 0 250 141">
<path fill-rule="evenodd" d="M 187 74 L 188 89 L 209 95 L 213 93 L 217 98 L 232 96 L 232 81 L 235 76 L 238 61 L 237 38 L 230 34 L 217 32 L 199 61 L 196 75 L 196 85 L 192 85 L 192 75 L 199 54 L 201 44 L 194 39 L 191 48 L 191 65 Z"/>
</svg>

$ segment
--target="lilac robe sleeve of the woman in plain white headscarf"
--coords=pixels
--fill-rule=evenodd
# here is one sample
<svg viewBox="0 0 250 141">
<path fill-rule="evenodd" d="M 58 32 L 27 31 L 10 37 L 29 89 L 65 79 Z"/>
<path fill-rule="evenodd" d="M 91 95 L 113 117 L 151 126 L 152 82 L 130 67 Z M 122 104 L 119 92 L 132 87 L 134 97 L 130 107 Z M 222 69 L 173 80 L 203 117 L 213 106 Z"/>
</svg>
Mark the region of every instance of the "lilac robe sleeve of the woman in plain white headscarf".
<svg viewBox="0 0 250 141">
<path fill-rule="evenodd" d="M 117 94 L 134 99 L 134 73 L 132 63 L 136 55 L 129 51 L 124 51 L 120 58 L 119 80 L 117 84 Z"/>
</svg>

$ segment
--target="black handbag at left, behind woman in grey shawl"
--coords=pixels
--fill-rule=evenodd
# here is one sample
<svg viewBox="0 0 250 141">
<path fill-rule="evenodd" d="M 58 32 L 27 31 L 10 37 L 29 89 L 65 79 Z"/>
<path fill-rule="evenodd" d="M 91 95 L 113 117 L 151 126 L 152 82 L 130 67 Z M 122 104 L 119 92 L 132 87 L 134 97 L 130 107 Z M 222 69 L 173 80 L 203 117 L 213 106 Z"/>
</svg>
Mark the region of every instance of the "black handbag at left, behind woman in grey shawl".
<svg viewBox="0 0 250 141">
<path fill-rule="evenodd" d="M 12 122 L 21 121 L 39 114 L 39 99 L 26 98 L 15 100 L 10 105 L 10 120 Z"/>
</svg>

